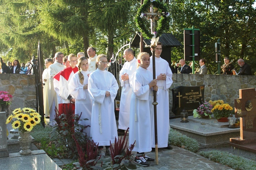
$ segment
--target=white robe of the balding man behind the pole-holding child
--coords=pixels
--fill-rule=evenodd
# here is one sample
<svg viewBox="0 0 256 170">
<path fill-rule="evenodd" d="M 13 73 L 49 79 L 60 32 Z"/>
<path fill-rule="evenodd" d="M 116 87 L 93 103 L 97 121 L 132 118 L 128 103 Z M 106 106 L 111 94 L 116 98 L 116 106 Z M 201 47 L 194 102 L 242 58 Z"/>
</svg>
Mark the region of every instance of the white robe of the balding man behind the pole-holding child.
<svg viewBox="0 0 256 170">
<path fill-rule="evenodd" d="M 130 102 L 132 95 L 132 88 L 130 84 L 132 74 L 137 70 L 137 59 L 133 58 L 130 62 L 125 62 L 120 70 L 119 80 L 122 88 L 122 94 L 120 99 L 120 110 L 118 119 L 118 129 L 126 130 L 129 127 L 130 119 Z M 129 75 L 129 80 L 121 80 L 121 76 L 124 74 Z"/>
</svg>

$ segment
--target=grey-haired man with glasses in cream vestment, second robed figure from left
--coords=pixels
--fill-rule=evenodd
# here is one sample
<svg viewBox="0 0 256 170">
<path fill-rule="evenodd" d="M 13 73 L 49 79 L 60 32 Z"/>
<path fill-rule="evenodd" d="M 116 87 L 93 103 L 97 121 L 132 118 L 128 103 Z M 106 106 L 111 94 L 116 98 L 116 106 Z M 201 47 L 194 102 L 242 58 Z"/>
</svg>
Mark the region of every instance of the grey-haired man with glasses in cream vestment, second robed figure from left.
<svg viewBox="0 0 256 170">
<path fill-rule="evenodd" d="M 58 109 L 58 98 L 57 94 L 54 90 L 54 85 L 53 85 L 53 76 L 57 74 L 58 72 L 62 71 L 64 69 L 63 63 L 63 53 L 62 52 L 56 52 L 55 53 L 55 63 L 52 65 L 49 65 L 48 67 L 48 79 L 49 81 L 49 87 L 48 87 L 48 102 L 49 102 L 49 115 L 50 115 L 50 125 L 53 126 L 54 123 L 54 115 L 55 115 L 55 106 Z"/>
</svg>

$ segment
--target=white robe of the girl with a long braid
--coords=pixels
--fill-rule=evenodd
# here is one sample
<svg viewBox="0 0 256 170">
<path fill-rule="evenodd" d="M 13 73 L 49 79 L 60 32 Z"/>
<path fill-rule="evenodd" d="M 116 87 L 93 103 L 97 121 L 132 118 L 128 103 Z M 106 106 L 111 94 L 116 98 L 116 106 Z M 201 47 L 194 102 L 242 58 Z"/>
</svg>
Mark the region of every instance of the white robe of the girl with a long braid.
<svg viewBox="0 0 256 170">
<path fill-rule="evenodd" d="M 69 82 L 69 92 L 75 98 L 75 114 L 81 115 L 80 119 L 88 119 L 80 121 L 80 124 L 84 126 L 91 125 L 91 106 L 92 101 L 89 96 L 88 89 L 84 89 L 84 86 L 88 84 L 88 76 L 91 72 L 89 71 L 82 71 L 81 73 L 84 75 L 84 82 L 81 84 L 79 78 L 79 72 L 76 72 L 70 82 Z M 87 136 L 90 136 L 90 127 L 85 128 L 85 133 Z"/>
</svg>

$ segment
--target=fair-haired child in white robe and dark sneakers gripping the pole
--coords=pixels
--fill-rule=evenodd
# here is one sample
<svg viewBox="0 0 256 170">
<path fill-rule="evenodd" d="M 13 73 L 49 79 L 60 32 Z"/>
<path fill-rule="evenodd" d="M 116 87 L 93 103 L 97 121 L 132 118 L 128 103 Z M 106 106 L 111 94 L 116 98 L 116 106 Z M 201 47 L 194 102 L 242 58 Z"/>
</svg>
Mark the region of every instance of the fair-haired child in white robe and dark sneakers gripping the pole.
<svg viewBox="0 0 256 170">
<path fill-rule="evenodd" d="M 157 80 L 152 80 L 152 74 L 147 70 L 150 65 L 150 56 L 142 52 L 137 57 L 139 68 L 132 74 L 131 86 L 133 94 L 130 104 L 130 123 L 129 123 L 129 145 L 135 141 L 133 151 L 142 154 L 136 156 L 134 163 L 149 166 L 148 161 L 154 159 L 145 155 L 144 152 L 151 151 L 151 118 L 150 107 L 153 107 L 153 90 L 157 91 Z"/>
</svg>

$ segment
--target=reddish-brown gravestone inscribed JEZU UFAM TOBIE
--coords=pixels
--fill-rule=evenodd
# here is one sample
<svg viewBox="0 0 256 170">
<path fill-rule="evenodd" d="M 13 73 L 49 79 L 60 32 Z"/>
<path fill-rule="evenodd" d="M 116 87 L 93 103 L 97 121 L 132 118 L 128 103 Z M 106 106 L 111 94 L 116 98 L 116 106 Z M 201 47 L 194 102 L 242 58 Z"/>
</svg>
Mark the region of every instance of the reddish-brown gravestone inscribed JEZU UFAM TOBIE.
<svg viewBox="0 0 256 170">
<path fill-rule="evenodd" d="M 230 145 L 256 153 L 256 92 L 255 88 L 239 89 L 234 100 L 235 117 L 240 118 L 240 137 L 230 138 Z"/>
</svg>

